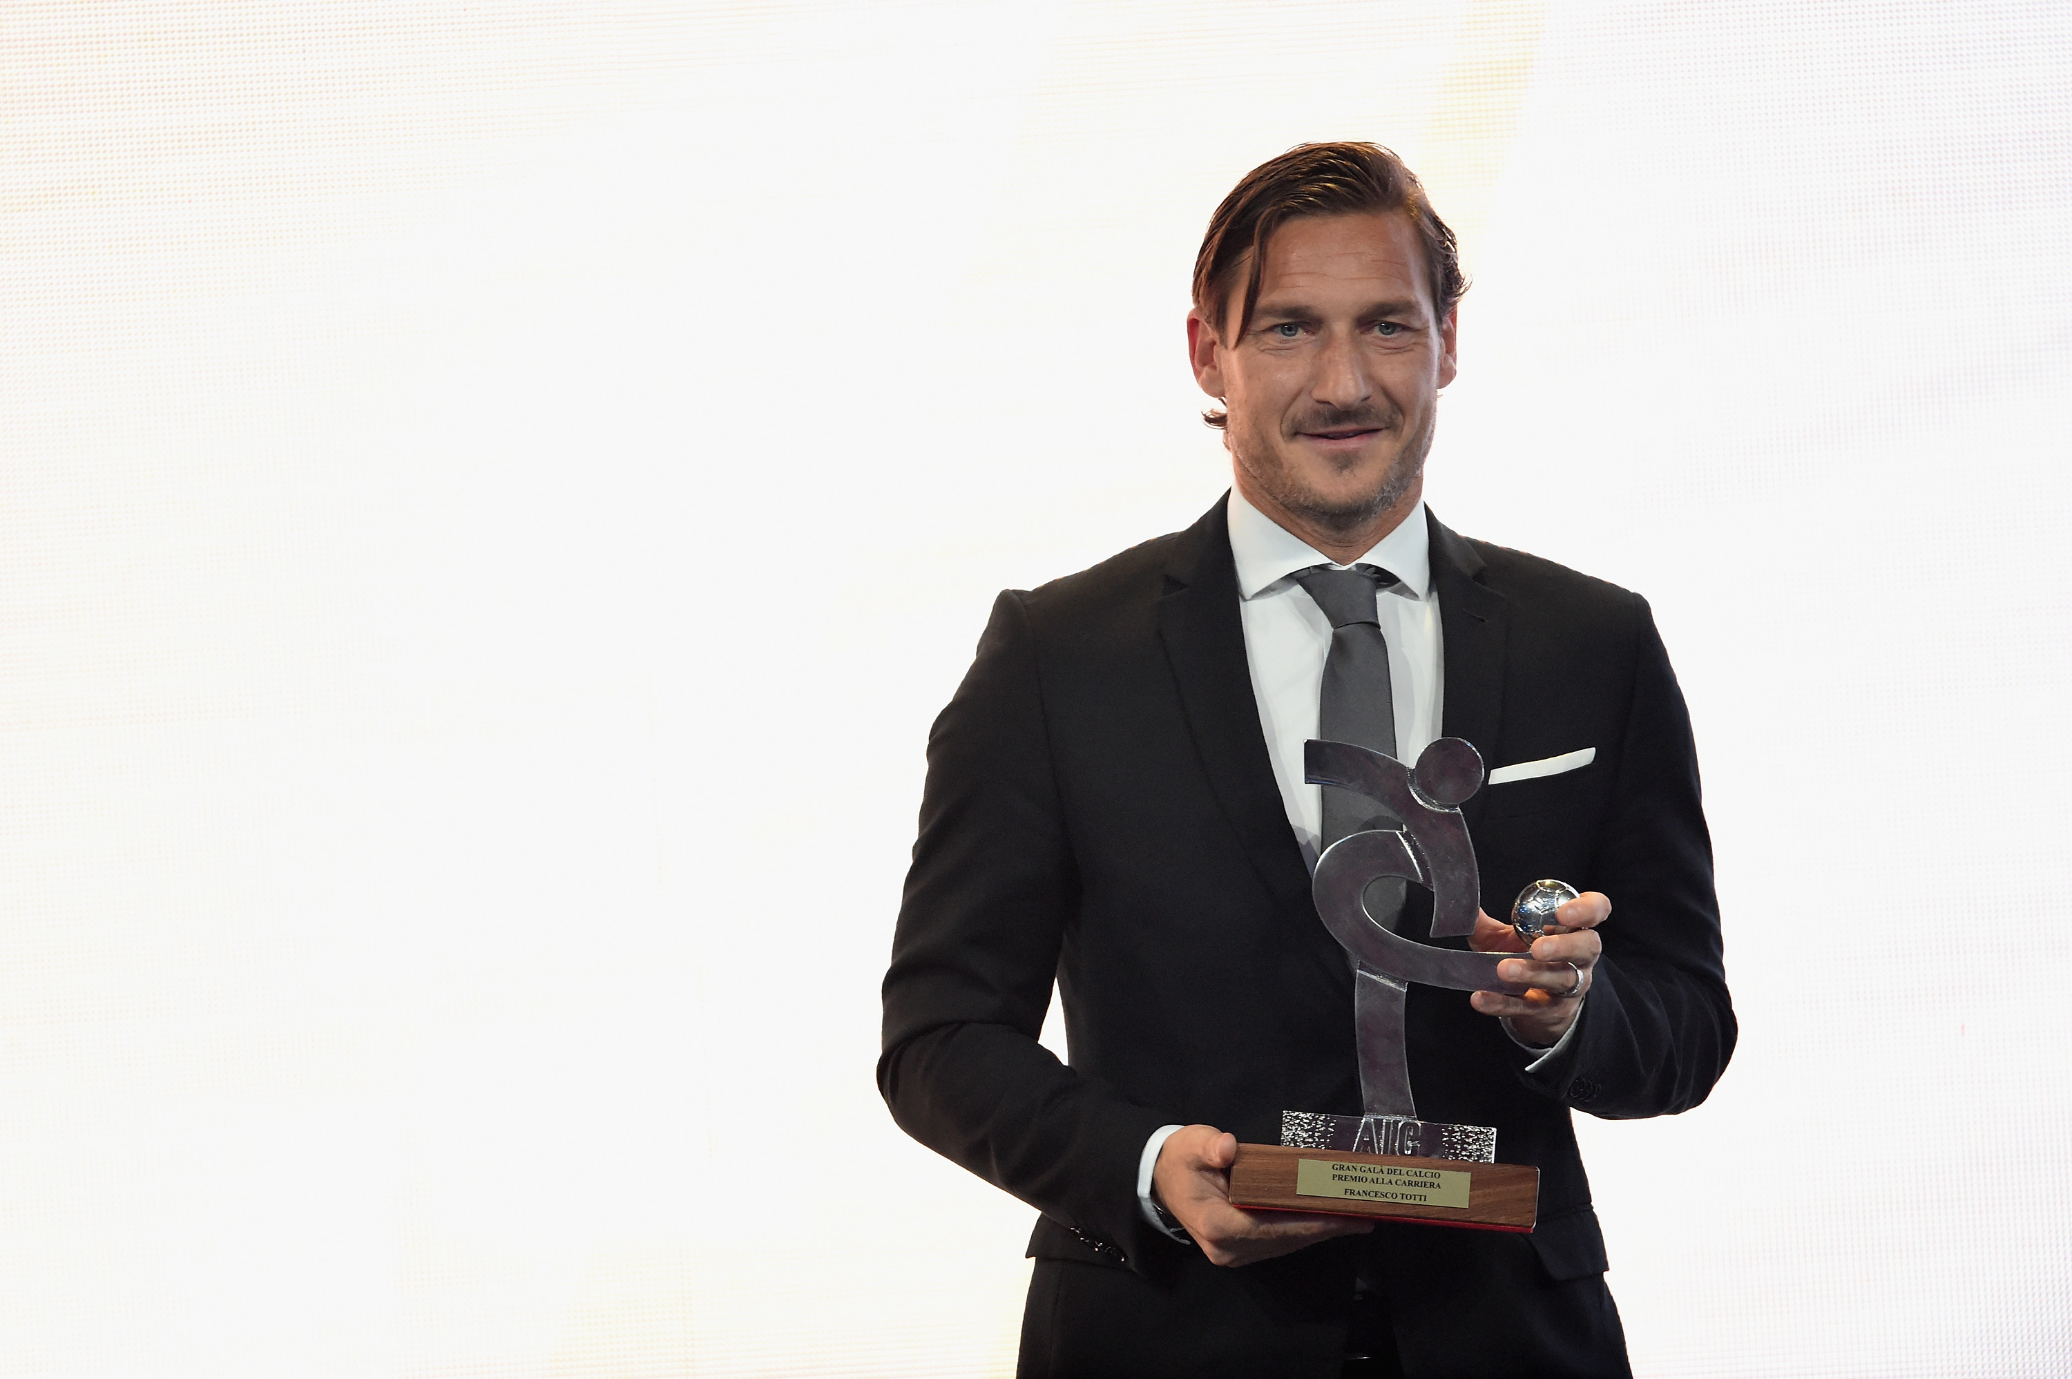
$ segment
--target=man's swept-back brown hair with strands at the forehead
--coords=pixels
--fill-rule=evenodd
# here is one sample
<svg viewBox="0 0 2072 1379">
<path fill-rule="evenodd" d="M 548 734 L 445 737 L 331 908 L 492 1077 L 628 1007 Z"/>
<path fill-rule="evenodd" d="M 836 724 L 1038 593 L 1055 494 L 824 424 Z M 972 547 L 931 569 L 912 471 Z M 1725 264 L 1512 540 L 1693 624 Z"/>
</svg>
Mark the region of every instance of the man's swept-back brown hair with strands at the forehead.
<svg viewBox="0 0 2072 1379">
<path fill-rule="evenodd" d="M 1274 230 L 1305 215 L 1361 211 L 1403 211 L 1411 217 L 1423 244 L 1432 306 L 1444 319 L 1467 292 L 1461 246 L 1432 209 L 1417 174 L 1376 143 L 1299 143 L 1247 172 L 1208 217 L 1208 234 L 1202 236 L 1202 253 L 1193 261 L 1193 309 L 1220 335 L 1237 267 L 1251 255 L 1243 306 L 1231 333 L 1231 340 L 1237 340 L 1251 325 L 1251 311 L 1260 304 L 1260 271 L 1266 265 L 1266 240 Z M 1220 427 L 1227 418 L 1212 408 L 1202 412 L 1202 420 Z"/>
</svg>

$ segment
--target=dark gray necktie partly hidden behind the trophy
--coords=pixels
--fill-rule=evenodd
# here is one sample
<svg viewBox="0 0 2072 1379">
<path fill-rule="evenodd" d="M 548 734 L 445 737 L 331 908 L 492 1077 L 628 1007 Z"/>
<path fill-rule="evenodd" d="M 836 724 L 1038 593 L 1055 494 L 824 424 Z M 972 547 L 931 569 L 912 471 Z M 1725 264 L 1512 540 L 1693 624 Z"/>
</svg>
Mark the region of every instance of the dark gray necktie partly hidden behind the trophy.
<svg viewBox="0 0 2072 1379">
<path fill-rule="evenodd" d="M 1324 683 L 1318 689 L 1316 735 L 1394 756 L 1397 702 L 1388 679 L 1388 642 L 1374 613 L 1374 596 L 1397 578 L 1374 565 L 1351 569 L 1312 565 L 1297 571 L 1295 582 L 1330 619 L 1330 654 L 1324 658 Z M 1353 832 L 1401 826 L 1403 820 L 1378 801 L 1326 785 L 1324 837 L 1318 839 L 1318 851 Z M 1365 897 L 1368 913 L 1392 930 L 1403 913 L 1403 892 L 1401 880 L 1374 882 Z"/>
</svg>

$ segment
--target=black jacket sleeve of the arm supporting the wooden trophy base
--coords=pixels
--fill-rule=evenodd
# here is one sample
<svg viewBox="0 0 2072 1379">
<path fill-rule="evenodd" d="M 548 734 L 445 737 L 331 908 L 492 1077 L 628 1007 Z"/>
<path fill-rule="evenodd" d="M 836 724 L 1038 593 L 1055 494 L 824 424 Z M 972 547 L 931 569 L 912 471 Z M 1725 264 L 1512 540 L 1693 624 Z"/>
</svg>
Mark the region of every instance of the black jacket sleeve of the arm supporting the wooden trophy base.
<svg viewBox="0 0 2072 1379">
<path fill-rule="evenodd" d="M 1138 1160 L 1169 1120 L 1036 1041 L 1080 899 L 1036 652 L 1003 592 L 928 733 L 879 1091 L 908 1135 L 1138 1265 Z"/>
</svg>

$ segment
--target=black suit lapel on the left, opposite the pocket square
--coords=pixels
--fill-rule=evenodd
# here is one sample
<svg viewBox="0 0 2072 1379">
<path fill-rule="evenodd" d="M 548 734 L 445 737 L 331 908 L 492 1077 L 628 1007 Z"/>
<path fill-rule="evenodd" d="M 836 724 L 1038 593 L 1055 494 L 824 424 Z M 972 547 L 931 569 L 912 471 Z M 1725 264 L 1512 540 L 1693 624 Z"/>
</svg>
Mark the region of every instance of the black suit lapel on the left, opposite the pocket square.
<svg viewBox="0 0 2072 1379">
<path fill-rule="evenodd" d="M 1289 828 L 1251 698 L 1227 503 L 1229 497 L 1177 542 L 1158 600 L 1158 638 L 1216 803 L 1266 890 L 1285 903 L 1307 897 L 1310 868 Z"/>
</svg>

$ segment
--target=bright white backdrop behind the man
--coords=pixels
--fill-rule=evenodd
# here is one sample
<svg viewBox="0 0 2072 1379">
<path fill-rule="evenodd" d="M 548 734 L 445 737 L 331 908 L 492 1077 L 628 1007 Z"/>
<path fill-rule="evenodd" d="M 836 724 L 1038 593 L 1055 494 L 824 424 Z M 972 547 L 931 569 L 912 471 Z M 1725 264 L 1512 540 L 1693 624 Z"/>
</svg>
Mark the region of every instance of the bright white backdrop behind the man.
<svg viewBox="0 0 2072 1379">
<path fill-rule="evenodd" d="M 2072 1373 L 2051 4 L 0 12 L 0 1373 L 1007 1373 L 872 1087 L 1001 586 L 1225 485 L 1202 226 L 1467 246 L 1430 497 L 1643 590 L 1743 1021 L 1643 1375 Z M 758 1174 L 804 1155 L 810 1193 Z"/>
</svg>

